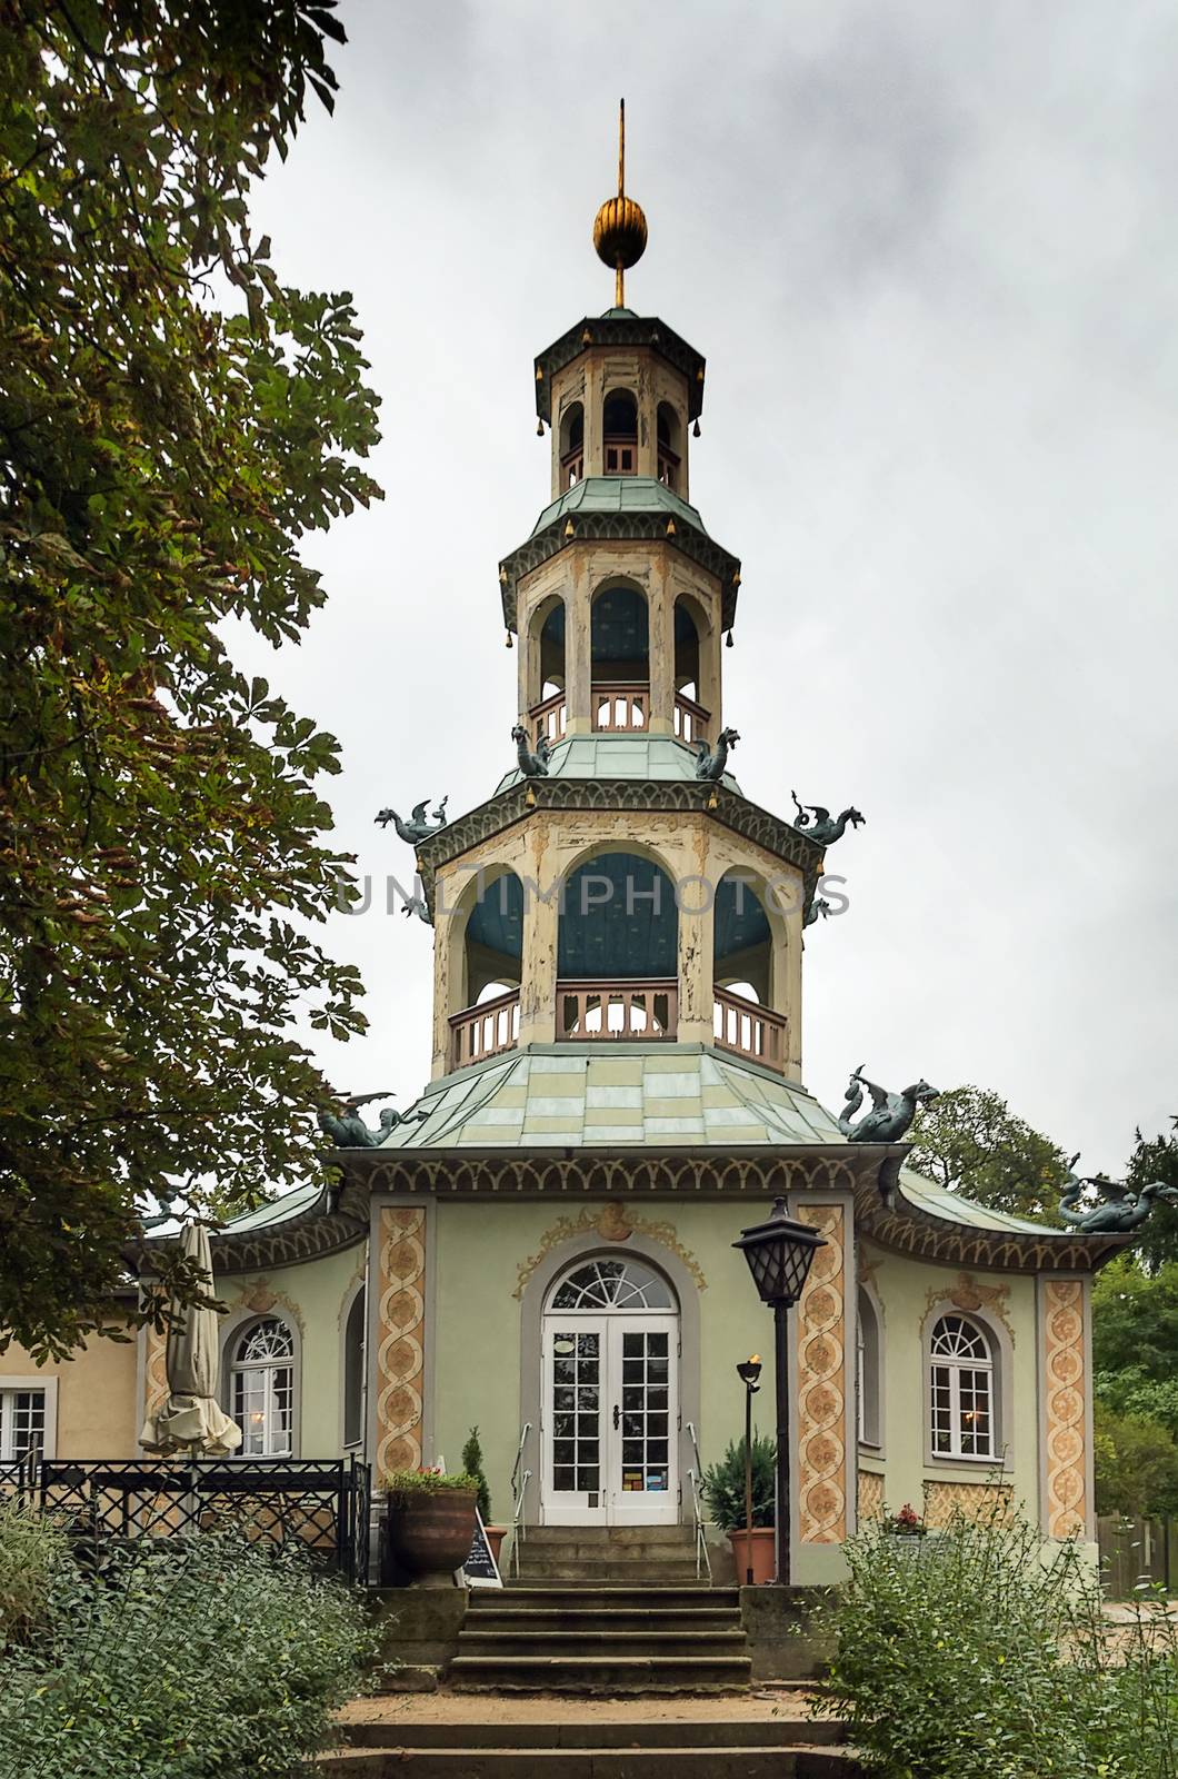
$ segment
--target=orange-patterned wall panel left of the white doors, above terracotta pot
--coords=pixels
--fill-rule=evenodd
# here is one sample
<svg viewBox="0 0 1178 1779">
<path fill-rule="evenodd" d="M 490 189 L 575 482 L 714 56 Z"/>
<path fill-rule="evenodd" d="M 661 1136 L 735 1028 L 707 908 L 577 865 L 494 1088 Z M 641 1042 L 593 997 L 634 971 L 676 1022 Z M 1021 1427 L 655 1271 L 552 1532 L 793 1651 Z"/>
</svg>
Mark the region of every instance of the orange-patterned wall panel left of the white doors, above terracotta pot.
<svg viewBox="0 0 1178 1779">
<path fill-rule="evenodd" d="M 425 1211 L 386 1204 L 377 1236 L 375 1482 L 422 1462 Z"/>
</svg>

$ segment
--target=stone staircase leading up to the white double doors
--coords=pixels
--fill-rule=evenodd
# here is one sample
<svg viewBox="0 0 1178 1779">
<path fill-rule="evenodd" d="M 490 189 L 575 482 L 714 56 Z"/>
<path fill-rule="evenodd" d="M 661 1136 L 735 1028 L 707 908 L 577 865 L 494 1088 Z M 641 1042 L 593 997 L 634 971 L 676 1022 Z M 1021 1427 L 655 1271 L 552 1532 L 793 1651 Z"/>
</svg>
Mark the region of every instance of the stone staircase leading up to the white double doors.
<svg viewBox="0 0 1178 1779">
<path fill-rule="evenodd" d="M 696 1580 L 690 1526 L 536 1526 L 520 1580 L 475 1590 L 459 1692 L 731 1692 L 751 1660 L 737 1589 Z"/>
</svg>

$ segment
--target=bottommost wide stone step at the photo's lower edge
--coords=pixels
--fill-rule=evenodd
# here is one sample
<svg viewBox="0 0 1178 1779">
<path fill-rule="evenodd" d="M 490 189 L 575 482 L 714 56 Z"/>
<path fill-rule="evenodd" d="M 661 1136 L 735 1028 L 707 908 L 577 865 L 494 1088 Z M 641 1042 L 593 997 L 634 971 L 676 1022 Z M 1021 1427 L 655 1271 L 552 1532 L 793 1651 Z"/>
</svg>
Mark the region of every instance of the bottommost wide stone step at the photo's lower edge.
<svg viewBox="0 0 1178 1779">
<path fill-rule="evenodd" d="M 683 1726 L 690 1733 L 692 1726 Z M 849 1749 L 788 1743 L 619 1749 L 342 1749 L 319 1779 L 863 1779 Z"/>
</svg>

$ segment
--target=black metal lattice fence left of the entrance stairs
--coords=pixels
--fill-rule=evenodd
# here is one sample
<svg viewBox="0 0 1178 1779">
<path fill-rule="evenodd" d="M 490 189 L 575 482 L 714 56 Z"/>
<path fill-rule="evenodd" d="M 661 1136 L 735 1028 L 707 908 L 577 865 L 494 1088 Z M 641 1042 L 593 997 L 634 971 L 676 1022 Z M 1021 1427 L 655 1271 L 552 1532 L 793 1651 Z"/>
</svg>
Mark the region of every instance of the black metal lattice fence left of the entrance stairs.
<svg viewBox="0 0 1178 1779">
<path fill-rule="evenodd" d="M 41 1459 L 18 1493 L 94 1544 L 240 1526 L 368 1582 L 372 1475 L 358 1459 Z"/>
</svg>

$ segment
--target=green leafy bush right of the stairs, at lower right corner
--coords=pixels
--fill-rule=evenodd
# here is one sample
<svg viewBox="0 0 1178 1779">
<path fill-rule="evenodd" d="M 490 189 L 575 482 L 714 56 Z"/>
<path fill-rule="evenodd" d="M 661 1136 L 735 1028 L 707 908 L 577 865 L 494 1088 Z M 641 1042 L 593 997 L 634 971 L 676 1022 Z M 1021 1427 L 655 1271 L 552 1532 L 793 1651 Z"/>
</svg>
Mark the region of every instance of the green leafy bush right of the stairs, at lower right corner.
<svg viewBox="0 0 1178 1779">
<path fill-rule="evenodd" d="M 826 1704 L 888 1779 L 1176 1779 L 1174 1626 L 1112 1628 L 1073 1544 L 1025 1521 L 847 1546 Z"/>
</svg>

